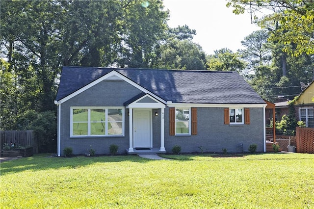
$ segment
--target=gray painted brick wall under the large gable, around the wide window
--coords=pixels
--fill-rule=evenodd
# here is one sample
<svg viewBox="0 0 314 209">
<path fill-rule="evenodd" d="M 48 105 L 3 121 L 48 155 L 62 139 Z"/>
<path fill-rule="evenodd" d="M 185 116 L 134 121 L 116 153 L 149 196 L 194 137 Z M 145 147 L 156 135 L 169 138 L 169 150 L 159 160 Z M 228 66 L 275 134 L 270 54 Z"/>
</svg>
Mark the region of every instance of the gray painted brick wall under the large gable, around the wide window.
<svg viewBox="0 0 314 209">
<path fill-rule="evenodd" d="M 141 91 L 125 81 L 105 80 L 61 104 L 61 155 L 65 147 L 72 147 L 73 154 L 88 153 L 92 146 L 96 154 L 109 154 L 109 146 L 119 146 L 118 153 L 129 148 L 129 116 L 125 110 L 125 135 L 123 137 L 73 137 L 70 138 L 71 106 L 123 106 L 123 103 Z M 112 97 L 112 95 L 114 95 Z"/>
</svg>

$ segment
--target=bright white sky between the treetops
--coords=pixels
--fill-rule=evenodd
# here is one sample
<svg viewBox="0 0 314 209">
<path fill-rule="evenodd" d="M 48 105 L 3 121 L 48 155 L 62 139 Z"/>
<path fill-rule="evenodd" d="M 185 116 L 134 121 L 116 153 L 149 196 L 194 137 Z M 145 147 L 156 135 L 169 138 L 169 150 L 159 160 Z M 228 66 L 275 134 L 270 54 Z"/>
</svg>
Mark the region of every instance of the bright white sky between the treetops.
<svg viewBox="0 0 314 209">
<path fill-rule="evenodd" d="M 189 26 L 196 30 L 193 42 L 198 43 L 207 54 L 228 48 L 233 52 L 243 49 L 241 41 L 259 26 L 251 24 L 249 13 L 235 15 L 226 0 L 163 0 L 170 10 L 168 26 Z"/>
</svg>

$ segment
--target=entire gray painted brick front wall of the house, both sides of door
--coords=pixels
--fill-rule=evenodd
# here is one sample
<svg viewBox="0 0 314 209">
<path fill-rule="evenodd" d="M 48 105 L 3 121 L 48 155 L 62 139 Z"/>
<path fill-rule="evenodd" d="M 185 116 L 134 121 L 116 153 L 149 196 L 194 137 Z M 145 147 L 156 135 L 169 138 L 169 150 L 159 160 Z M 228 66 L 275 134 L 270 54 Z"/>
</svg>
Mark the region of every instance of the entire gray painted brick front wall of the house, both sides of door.
<svg viewBox="0 0 314 209">
<path fill-rule="evenodd" d="M 141 93 L 125 81 L 105 80 L 89 88 L 67 102 L 61 104 L 61 155 L 65 147 L 72 147 L 74 154 L 88 152 L 90 146 L 96 154 L 108 154 L 109 146 L 119 146 L 118 153 L 123 154 L 129 148 L 129 116 L 125 110 L 125 135 L 122 137 L 83 137 L 70 138 L 70 107 L 71 106 L 123 106 L 123 103 Z M 112 97 L 112 94 L 114 95 Z M 155 112 L 158 116 L 155 116 Z M 152 110 L 153 147 L 160 148 L 160 109 Z M 180 145 L 182 152 L 241 151 L 238 147 L 243 143 L 244 152 L 248 152 L 250 144 L 257 144 L 257 151 L 263 151 L 263 109 L 250 108 L 250 125 L 224 125 L 224 108 L 197 109 L 198 134 L 191 136 L 169 135 L 169 108 L 165 109 L 165 149 L 171 152 L 174 145 Z"/>
</svg>

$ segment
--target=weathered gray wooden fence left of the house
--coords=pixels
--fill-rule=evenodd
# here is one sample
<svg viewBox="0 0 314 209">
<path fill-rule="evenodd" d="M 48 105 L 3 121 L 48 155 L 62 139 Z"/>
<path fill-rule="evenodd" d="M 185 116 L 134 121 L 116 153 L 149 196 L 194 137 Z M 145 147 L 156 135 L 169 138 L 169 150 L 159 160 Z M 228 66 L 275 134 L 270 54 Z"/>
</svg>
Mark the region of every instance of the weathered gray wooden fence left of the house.
<svg viewBox="0 0 314 209">
<path fill-rule="evenodd" d="M 33 153 L 38 153 L 38 145 L 36 143 L 34 133 L 28 131 L 0 131 L 1 149 L 5 143 L 15 143 L 17 146 L 32 147 Z"/>
</svg>

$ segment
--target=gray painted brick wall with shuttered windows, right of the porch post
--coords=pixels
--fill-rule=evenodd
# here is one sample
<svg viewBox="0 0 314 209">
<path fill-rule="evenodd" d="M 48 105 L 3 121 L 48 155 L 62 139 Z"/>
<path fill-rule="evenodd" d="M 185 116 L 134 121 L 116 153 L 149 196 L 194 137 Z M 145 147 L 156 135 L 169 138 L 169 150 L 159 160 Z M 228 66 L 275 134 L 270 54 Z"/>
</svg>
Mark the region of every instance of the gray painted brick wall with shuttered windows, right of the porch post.
<svg viewBox="0 0 314 209">
<path fill-rule="evenodd" d="M 169 124 L 169 109 L 166 109 L 165 124 Z M 251 144 L 257 144 L 258 152 L 263 151 L 263 109 L 250 108 L 250 125 L 225 125 L 224 108 L 197 108 L 197 135 L 170 136 L 168 126 L 165 127 L 165 149 L 171 152 L 174 145 L 181 146 L 182 152 L 248 152 Z"/>
</svg>

